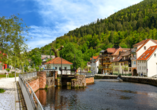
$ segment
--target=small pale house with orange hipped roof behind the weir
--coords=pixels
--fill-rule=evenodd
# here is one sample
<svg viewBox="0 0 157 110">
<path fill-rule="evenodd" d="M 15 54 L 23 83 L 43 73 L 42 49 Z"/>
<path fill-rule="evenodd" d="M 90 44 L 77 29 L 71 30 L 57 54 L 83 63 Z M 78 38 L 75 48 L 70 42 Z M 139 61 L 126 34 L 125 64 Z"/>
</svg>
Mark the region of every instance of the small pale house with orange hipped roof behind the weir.
<svg viewBox="0 0 157 110">
<path fill-rule="evenodd" d="M 45 65 L 47 66 L 47 69 L 55 69 L 56 71 L 58 71 L 58 74 L 61 74 L 61 67 L 62 67 L 62 74 L 70 74 L 70 69 L 71 69 L 71 65 L 73 63 L 63 59 L 63 58 L 60 58 L 60 57 L 57 57 L 57 58 L 54 58 L 50 61 L 48 61 L 47 63 L 45 63 Z"/>
</svg>

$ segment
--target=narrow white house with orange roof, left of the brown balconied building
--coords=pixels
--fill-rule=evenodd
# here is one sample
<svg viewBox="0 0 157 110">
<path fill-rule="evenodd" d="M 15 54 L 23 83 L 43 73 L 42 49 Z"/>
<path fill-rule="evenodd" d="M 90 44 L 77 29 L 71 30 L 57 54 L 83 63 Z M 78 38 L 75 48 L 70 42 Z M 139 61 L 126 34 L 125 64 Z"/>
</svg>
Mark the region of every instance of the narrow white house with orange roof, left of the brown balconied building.
<svg viewBox="0 0 157 110">
<path fill-rule="evenodd" d="M 93 60 L 93 61 L 92 61 Z M 94 74 L 98 74 L 99 71 L 99 56 L 93 56 L 90 58 L 91 64 L 91 72 Z"/>
</svg>

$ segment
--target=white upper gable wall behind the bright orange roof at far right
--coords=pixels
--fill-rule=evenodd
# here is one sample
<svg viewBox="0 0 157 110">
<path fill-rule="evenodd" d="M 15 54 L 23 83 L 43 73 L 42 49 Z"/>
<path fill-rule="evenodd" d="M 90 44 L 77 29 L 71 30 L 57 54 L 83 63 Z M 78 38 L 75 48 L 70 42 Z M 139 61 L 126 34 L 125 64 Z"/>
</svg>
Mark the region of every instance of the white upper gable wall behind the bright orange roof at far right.
<svg viewBox="0 0 157 110">
<path fill-rule="evenodd" d="M 139 49 L 139 46 L 138 46 L 139 50 L 136 52 L 137 58 L 139 58 L 149 47 L 155 46 L 155 45 L 157 45 L 155 42 L 153 42 L 152 40 L 149 40 L 145 45 L 143 45 L 142 48 Z"/>
</svg>

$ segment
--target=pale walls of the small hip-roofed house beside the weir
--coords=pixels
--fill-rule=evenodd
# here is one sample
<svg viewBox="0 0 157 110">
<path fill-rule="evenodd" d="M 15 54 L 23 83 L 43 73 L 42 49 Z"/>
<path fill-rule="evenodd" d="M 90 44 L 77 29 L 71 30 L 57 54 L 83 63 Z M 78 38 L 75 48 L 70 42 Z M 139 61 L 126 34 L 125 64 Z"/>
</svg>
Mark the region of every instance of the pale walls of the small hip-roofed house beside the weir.
<svg viewBox="0 0 157 110">
<path fill-rule="evenodd" d="M 50 64 L 50 65 L 51 65 L 50 69 L 56 69 L 58 71 L 58 74 L 61 74 L 61 71 L 59 70 L 59 68 L 61 68 L 61 64 Z M 71 65 L 69 65 L 69 64 L 62 64 L 62 69 L 71 69 L 70 66 Z M 70 74 L 70 71 L 62 70 L 62 74 Z"/>
</svg>

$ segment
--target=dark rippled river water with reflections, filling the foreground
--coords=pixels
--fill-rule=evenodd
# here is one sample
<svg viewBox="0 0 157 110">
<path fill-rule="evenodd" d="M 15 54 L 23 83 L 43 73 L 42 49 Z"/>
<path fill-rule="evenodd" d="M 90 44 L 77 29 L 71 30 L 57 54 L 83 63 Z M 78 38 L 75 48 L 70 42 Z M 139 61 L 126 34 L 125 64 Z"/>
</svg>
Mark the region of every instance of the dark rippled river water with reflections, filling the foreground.
<svg viewBox="0 0 157 110">
<path fill-rule="evenodd" d="M 85 89 L 49 88 L 36 92 L 45 110 L 157 110 L 157 87 L 96 80 Z"/>
</svg>

